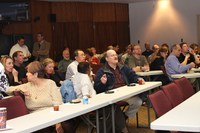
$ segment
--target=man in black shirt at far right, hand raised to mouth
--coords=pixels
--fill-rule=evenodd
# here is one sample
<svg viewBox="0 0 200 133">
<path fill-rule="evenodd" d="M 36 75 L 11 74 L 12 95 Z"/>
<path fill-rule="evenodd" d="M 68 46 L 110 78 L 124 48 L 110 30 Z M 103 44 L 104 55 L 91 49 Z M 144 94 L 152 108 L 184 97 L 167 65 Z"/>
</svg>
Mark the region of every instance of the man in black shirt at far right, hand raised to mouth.
<svg viewBox="0 0 200 133">
<path fill-rule="evenodd" d="M 181 54 L 178 57 L 179 62 L 182 65 L 190 64 L 191 62 L 194 62 L 195 64 L 199 64 L 199 58 L 197 57 L 196 53 L 193 49 L 188 47 L 188 44 L 183 42 L 180 44 L 181 47 Z"/>
</svg>

